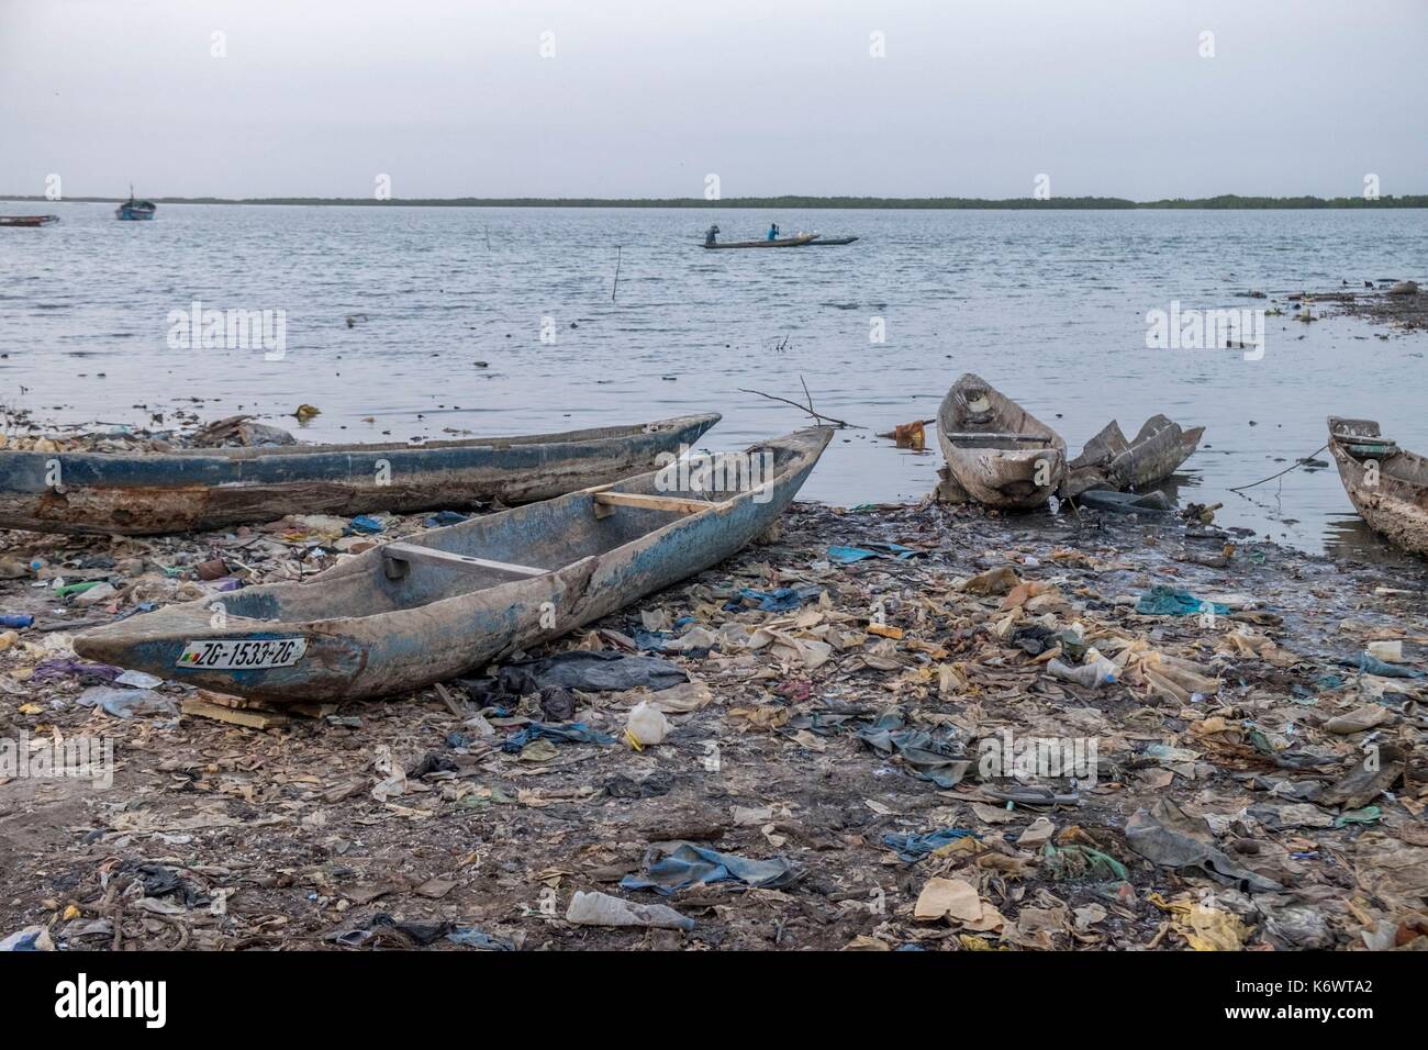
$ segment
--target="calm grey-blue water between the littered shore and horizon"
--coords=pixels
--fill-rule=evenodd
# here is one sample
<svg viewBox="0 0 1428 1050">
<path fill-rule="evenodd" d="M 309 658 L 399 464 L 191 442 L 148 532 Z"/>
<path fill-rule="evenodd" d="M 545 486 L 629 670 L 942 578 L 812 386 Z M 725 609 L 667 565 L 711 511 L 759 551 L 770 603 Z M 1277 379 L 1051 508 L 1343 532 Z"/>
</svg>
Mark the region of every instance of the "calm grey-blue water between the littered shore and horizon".
<svg viewBox="0 0 1428 1050">
<path fill-rule="evenodd" d="M 874 433 L 931 419 L 977 371 L 1072 454 L 1111 417 L 1128 433 L 1155 411 L 1207 424 L 1181 499 L 1224 500 L 1222 523 L 1309 550 L 1362 541 L 1334 470 L 1227 489 L 1314 451 L 1331 413 L 1377 417 L 1428 450 L 1428 334 L 1382 341 L 1352 319 L 1285 316 L 1267 319 L 1259 361 L 1145 347 L 1145 313 L 1171 300 L 1267 306 L 1234 293 L 1422 281 L 1428 211 L 161 206 L 153 223 L 120 223 L 101 204 L 3 210 L 63 217 L 0 230 L 0 400 L 56 421 L 147 424 L 183 407 L 293 427 L 281 417 L 306 401 L 323 411 L 307 440 L 391 440 L 714 409 L 710 446 L 734 447 L 807 423 L 738 389 L 801 400 L 803 376 L 821 411 L 868 427 L 840 433 L 804 496 L 857 504 L 931 487 L 937 454 Z M 863 240 L 698 247 L 711 221 L 734 240 L 771 219 Z M 283 360 L 170 349 L 169 311 L 196 299 L 284 310 Z M 350 314 L 367 320 L 348 327 Z M 870 341 L 874 317 L 884 343 Z"/>
</svg>

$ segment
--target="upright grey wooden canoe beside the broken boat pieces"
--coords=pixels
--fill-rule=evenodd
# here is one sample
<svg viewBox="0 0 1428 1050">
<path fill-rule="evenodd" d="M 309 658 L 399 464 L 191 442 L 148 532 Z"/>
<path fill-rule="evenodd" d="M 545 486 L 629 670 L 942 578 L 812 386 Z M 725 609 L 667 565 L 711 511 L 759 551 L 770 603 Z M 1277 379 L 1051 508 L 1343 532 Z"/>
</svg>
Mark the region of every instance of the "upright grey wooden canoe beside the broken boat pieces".
<svg viewBox="0 0 1428 1050">
<path fill-rule="evenodd" d="M 1061 436 L 971 373 L 942 399 L 937 440 L 947 457 L 938 497 L 947 503 L 1034 510 L 1065 474 Z"/>
</svg>

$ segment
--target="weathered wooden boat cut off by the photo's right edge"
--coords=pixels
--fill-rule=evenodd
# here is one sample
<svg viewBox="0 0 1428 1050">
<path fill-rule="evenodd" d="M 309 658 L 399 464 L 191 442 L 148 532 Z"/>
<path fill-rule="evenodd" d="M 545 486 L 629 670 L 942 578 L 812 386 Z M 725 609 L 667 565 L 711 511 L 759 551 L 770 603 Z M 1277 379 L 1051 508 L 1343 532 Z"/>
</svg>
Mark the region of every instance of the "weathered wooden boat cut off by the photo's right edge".
<svg viewBox="0 0 1428 1050">
<path fill-rule="evenodd" d="M 1354 509 L 1369 527 L 1428 554 L 1428 459 L 1385 439 L 1378 423 L 1329 416 L 1329 451 Z"/>
</svg>

